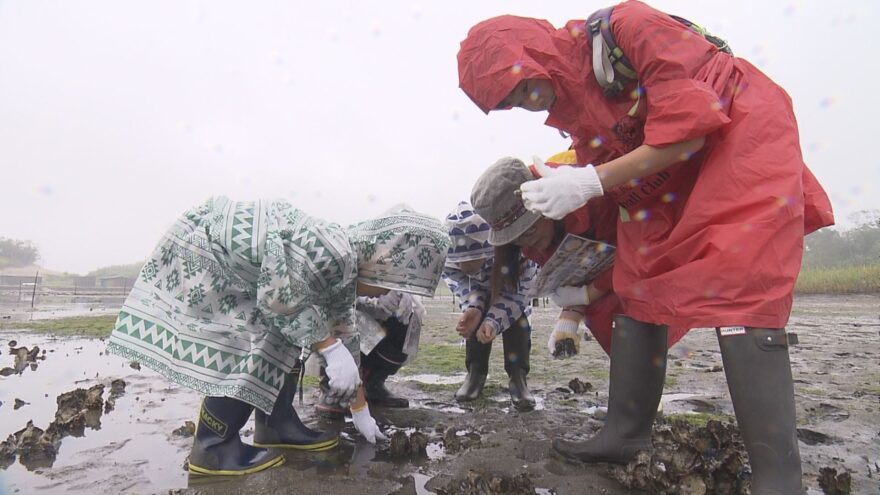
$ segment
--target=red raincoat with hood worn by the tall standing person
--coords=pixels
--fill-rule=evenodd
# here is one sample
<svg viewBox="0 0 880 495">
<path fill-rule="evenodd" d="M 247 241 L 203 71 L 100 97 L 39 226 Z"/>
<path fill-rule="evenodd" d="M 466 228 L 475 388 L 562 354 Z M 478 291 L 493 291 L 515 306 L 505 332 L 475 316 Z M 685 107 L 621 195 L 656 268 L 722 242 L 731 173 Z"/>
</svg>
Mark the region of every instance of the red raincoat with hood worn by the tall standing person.
<svg viewBox="0 0 880 495">
<path fill-rule="evenodd" d="M 606 191 L 621 207 L 615 292 L 628 316 L 670 328 L 784 327 L 803 237 L 833 223 L 803 162 L 791 100 L 641 2 L 616 6 L 611 30 L 640 78 L 619 97 L 595 80 L 584 21 L 556 30 L 514 16 L 471 29 L 460 86 L 488 112 L 520 80 L 549 79 L 557 99 L 547 125 L 572 135 L 579 162 L 599 167 L 641 144 L 706 136 L 689 160 Z"/>
</svg>

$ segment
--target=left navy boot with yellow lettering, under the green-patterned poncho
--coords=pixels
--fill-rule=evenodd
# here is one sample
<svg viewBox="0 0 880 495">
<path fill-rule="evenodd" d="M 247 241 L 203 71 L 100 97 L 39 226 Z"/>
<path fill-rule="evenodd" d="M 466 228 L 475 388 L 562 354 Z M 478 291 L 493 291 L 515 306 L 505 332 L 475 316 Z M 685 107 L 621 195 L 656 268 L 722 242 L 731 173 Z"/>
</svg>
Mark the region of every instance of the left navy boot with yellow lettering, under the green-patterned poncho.
<svg viewBox="0 0 880 495">
<path fill-rule="evenodd" d="M 252 447 L 238 432 L 247 423 L 253 406 L 228 397 L 205 397 L 189 454 L 189 472 L 235 476 L 280 466 L 284 456 Z"/>
</svg>

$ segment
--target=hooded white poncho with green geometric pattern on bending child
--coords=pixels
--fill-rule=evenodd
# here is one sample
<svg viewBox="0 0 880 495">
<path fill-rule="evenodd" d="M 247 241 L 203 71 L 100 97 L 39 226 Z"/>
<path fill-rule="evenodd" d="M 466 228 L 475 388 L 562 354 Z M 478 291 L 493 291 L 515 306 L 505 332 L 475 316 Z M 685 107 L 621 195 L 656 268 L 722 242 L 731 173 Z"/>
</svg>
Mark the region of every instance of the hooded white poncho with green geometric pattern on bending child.
<svg viewBox="0 0 880 495">
<path fill-rule="evenodd" d="M 353 325 L 357 280 L 433 295 L 448 243 L 409 210 L 343 228 L 285 201 L 211 198 L 144 264 L 108 350 L 268 412 L 303 350 Z"/>
</svg>

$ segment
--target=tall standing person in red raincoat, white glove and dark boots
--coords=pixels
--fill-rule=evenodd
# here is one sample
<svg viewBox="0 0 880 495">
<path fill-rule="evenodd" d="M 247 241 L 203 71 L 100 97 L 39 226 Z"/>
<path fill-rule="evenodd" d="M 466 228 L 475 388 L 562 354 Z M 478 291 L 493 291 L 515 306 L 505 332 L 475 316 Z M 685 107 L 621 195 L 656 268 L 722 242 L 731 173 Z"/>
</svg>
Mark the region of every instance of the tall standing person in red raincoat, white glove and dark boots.
<svg viewBox="0 0 880 495">
<path fill-rule="evenodd" d="M 459 51 L 464 92 L 484 111 L 548 111 L 575 139 L 575 168 L 543 168 L 523 200 L 551 218 L 609 194 L 620 206 L 608 421 L 562 455 L 625 462 L 651 447 L 667 326 L 715 327 L 754 493 L 801 490 L 784 332 L 805 234 L 833 223 L 807 170 L 785 91 L 747 61 L 641 2 L 610 31 L 638 82 L 606 97 L 584 21 L 562 29 L 501 16 Z"/>
</svg>

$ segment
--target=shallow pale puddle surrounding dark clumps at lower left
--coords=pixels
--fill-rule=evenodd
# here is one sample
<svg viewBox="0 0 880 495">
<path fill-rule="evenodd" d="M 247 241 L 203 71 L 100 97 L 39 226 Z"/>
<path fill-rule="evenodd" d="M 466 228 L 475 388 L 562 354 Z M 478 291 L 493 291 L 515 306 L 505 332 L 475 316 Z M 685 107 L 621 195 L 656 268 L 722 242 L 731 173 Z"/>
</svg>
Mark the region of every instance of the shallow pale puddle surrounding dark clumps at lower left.
<svg viewBox="0 0 880 495">
<path fill-rule="evenodd" d="M 183 460 L 190 439 L 175 437 L 172 430 L 194 419 L 200 397 L 179 387 L 169 387 L 164 379 L 143 368 L 136 371 L 129 363 L 104 352 L 105 344 L 91 339 L 53 337 L 3 332 L 3 345 L 38 345 L 46 359 L 36 369 L 3 378 L 0 388 L 0 425 L 3 439 L 25 427 L 28 420 L 45 429 L 55 419 L 56 397 L 77 388 L 104 384 L 122 378 L 128 384 L 116 399 L 112 411 L 100 418 L 100 429 L 86 428 L 82 437 L 65 437 L 56 460 L 23 465 L 21 459 L 0 471 L 0 492 L 40 493 L 93 491 L 96 482 L 110 491 L 156 491 L 186 486 Z M 11 356 L 0 355 L 7 366 Z M 109 394 L 105 393 L 105 399 Z M 27 405 L 13 409 L 14 399 Z M 136 439 L 135 441 L 132 441 Z"/>
</svg>

